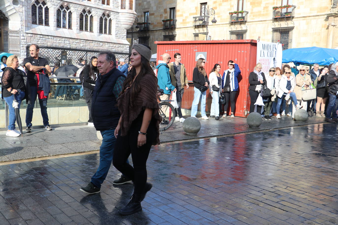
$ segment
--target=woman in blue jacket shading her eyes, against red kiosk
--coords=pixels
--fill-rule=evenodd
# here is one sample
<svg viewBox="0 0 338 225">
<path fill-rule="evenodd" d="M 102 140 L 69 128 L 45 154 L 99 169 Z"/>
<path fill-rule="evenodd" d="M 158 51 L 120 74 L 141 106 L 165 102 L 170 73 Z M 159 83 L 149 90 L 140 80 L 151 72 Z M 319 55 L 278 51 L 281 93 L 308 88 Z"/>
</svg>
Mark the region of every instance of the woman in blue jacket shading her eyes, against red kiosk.
<svg viewBox="0 0 338 225">
<path fill-rule="evenodd" d="M 234 61 L 228 61 L 228 69 L 223 72 L 222 76 L 222 91 L 225 96 L 225 104 L 224 104 L 224 114 L 223 118 L 225 118 L 226 112 L 228 111 L 229 102 L 230 102 L 230 118 L 235 118 L 234 112 L 236 107 L 236 95 L 238 91 L 238 75 L 241 73 L 239 66 Z M 224 88 L 225 87 L 225 88 Z M 228 91 L 225 91 L 228 90 Z"/>
</svg>

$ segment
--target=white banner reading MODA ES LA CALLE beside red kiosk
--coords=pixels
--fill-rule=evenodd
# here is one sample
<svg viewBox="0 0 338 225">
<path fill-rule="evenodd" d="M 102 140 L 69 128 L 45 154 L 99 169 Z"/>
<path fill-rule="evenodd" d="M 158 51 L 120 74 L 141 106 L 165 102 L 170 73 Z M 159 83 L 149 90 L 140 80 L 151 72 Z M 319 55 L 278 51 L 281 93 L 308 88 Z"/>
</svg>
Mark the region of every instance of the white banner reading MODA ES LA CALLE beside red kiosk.
<svg viewBox="0 0 338 225">
<path fill-rule="evenodd" d="M 282 51 L 282 44 L 257 41 L 257 63 L 262 64 L 265 75 L 271 67 L 282 68 Z"/>
</svg>

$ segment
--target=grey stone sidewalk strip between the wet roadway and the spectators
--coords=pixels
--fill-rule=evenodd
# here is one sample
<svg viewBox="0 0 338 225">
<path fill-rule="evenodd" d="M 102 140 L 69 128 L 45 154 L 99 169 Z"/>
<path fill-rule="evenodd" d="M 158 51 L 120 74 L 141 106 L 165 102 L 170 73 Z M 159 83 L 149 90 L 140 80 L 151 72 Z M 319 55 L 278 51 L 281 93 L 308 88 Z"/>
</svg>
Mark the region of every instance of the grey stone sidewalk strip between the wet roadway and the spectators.
<svg viewBox="0 0 338 225">
<path fill-rule="evenodd" d="M 288 116 L 282 116 L 281 119 L 273 118 L 273 120 L 263 120 L 259 128 L 250 128 L 246 123 L 246 118 L 227 117 L 220 118 L 220 120 L 215 120 L 214 118 L 203 120 L 199 117 L 201 130 L 196 136 L 187 135 L 183 131 L 182 123 L 175 122 L 169 130 L 160 135 L 160 141 L 165 143 L 324 122 L 323 118 L 316 117 L 309 118 L 306 122 L 297 122 Z M 7 137 L 5 136 L 6 132 L 1 131 L 0 162 L 95 151 L 100 147 L 100 141 L 97 139 L 96 130 L 93 127 L 75 125 L 53 129 L 53 131 L 46 131 L 33 128 L 32 133 L 24 132 L 23 137 Z M 7 157 L 5 152 L 10 147 L 17 150 L 18 148 L 16 147 L 22 147 L 22 149 L 13 152 L 10 157 Z M 39 152 L 35 148 L 31 152 L 25 150 L 25 148 L 29 147 L 38 147 L 41 151 Z M 26 152 L 29 153 L 26 154 Z"/>
</svg>

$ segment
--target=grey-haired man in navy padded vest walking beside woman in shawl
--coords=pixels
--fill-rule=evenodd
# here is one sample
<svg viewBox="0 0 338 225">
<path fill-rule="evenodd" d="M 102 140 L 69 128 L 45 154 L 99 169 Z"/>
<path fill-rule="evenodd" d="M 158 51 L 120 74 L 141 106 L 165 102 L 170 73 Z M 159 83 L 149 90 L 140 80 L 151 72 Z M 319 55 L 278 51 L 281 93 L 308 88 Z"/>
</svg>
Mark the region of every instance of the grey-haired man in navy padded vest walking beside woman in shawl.
<svg viewBox="0 0 338 225">
<path fill-rule="evenodd" d="M 107 176 L 108 170 L 112 165 L 113 151 L 116 138 L 115 128 L 120 119 L 120 111 L 116 107 L 117 98 L 122 91 L 125 76 L 116 68 L 116 57 L 110 51 L 100 52 L 97 56 L 98 76 L 93 91 L 92 118 L 95 129 L 101 132 L 102 144 L 100 146 L 100 165 L 96 173 L 92 176 L 91 182 L 87 187 L 80 188 L 80 191 L 88 194 L 100 192 L 101 184 Z M 129 161 L 127 160 L 127 163 Z M 121 185 L 130 183 L 131 179 L 121 176 L 113 184 Z"/>
</svg>

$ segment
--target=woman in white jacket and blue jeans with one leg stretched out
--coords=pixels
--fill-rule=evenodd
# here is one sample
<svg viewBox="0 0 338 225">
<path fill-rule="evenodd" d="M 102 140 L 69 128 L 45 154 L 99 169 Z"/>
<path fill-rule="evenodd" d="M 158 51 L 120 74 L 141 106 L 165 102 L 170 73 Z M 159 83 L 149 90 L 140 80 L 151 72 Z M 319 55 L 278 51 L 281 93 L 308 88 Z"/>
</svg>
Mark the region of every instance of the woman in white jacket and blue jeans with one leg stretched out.
<svg viewBox="0 0 338 225">
<path fill-rule="evenodd" d="M 281 105 L 285 105 L 285 97 L 287 94 L 290 95 L 290 101 L 292 100 L 296 109 L 301 109 L 302 106 L 298 105 L 296 94 L 293 92 L 295 88 L 294 78 L 291 76 L 291 69 L 285 68 L 285 73 L 283 74 L 278 87 L 278 102 L 277 102 L 277 112 L 280 112 Z M 290 103 L 291 105 L 291 103 Z M 280 119 L 281 115 L 278 113 L 276 119 Z"/>
</svg>

